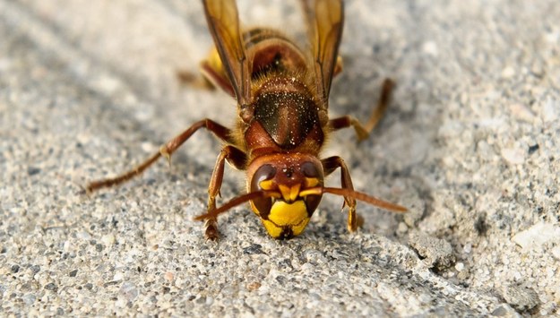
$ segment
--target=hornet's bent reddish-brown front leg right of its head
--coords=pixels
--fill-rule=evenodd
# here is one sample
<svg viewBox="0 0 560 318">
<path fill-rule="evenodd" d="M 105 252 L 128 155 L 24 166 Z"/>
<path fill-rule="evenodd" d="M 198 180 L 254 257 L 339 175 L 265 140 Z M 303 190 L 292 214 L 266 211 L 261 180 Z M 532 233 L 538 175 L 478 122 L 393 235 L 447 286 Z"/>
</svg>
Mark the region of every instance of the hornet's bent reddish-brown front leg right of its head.
<svg viewBox="0 0 560 318">
<path fill-rule="evenodd" d="M 349 169 L 343 159 L 339 156 L 333 156 L 322 159 L 321 162 L 323 163 L 325 176 L 332 174 L 334 170 L 340 168 L 340 185 L 342 189 L 354 191 L 354 185 L 352 185 L 352 178 L 350 177 Z M 364 219 L 356 213 L 356 199 L 345 196 L 344 202 L 348 205 L 348 229 L 350 232 L 354 232 L 358 229 L 358 227 L 362 226 Z"/>
</svg>

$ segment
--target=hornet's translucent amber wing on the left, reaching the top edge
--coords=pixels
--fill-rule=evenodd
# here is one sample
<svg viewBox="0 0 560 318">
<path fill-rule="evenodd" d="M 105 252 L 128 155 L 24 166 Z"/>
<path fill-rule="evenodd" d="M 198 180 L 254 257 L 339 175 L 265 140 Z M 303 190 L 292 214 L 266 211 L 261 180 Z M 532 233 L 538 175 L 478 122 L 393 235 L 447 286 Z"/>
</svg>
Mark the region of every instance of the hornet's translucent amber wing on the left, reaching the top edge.
<svg viewBox="0 0 560 318">
<path fill-rule="evenodd" d="M 247 105 L 251 98 L 249 67 L 239 30 L 235 0 L 202 0 L 204 13 L 221 63 L 228 74 L 237 104 Z"/>
</svg>

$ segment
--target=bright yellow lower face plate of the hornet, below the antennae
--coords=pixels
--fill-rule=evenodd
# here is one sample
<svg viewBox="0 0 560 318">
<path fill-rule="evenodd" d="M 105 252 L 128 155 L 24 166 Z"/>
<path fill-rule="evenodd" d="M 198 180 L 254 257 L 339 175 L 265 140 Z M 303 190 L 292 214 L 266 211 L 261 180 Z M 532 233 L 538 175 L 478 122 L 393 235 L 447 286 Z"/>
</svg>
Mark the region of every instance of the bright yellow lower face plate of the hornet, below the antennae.
<svg viewBox="0 0 560 318">
<path fill-rule="evenodd" d="M 264 228 L 272 237 L 280 237 L 282 227 L 289 227 L 294 236 L 301 234 L 309 223 L 306 203 L 297 200 L 291 204 L 274 202 L 268 219 L 263 219 Z"/>
</svg>

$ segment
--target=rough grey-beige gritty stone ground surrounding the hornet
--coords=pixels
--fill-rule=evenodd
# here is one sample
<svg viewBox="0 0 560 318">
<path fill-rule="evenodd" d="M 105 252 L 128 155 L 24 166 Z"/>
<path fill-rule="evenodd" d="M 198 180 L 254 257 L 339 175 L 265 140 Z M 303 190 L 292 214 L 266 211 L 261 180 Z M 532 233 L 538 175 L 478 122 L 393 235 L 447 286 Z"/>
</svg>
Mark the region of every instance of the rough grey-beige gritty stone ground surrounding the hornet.
<svg viewBox="0 0 560 318">
<path fill-rule="evenodd" d="M 300 25 L 280 1 L 244 19 Z M 325 198 L 303 236 L 269 238 L 247 206 L 206 242 L 194 215 L 220 142 L 197 133 L 129 184 L 80 194 L 204 116 L 223 93 L 181 85 L 209 47 L 201 4 L 0 0 L 0 312 L 35 314 L 560 314 L 560 5 L 349 1 L 332 115 L 387 116 L 332 137 L 364 204 L 346 232 Z M 231 169 L 224 199 L 243 191 Z M 332 185 L 338 184 L 336 177 Z"/>
</svg>

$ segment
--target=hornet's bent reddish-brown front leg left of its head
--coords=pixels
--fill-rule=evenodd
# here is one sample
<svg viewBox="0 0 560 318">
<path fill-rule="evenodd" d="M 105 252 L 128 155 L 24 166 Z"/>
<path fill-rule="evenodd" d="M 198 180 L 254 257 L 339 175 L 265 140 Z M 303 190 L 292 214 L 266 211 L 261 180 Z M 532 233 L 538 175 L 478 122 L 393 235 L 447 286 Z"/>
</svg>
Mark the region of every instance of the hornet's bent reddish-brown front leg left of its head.
<svg viewBox="0 0 560 318">
<path fill-rule="evenodd" d="M 220 195 L 221 183 L 224 179 L 224 163 L 228 163 L 237 169 L 243 169 L 246 165 L 246 153 L 234 146 L 225 146 L 216 159 L 216 165 L 208 185 L 208 212 L 216 210 L 216 197 Z M 206 219 L 204 223 L 204 236 L 212 241 L 220 238 L 218 231 L 218 219 L 216 217 Z"/>
</svg>

